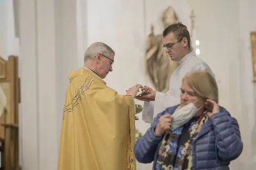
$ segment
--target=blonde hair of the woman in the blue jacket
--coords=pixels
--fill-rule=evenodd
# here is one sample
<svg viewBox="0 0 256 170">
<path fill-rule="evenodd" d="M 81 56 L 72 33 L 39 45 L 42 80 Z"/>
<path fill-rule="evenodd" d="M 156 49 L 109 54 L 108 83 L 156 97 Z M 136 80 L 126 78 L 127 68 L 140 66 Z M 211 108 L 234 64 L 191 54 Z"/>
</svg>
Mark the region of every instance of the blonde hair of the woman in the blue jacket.
<svg viewBox="0 0 256 170">
<path fill-rule="evenodd" d="M 209 72 L 203 70 L 189 72 L 184 79 L 186 79 L 196 95 L 214 100 L 218 104 L 218 86 L 214 77 Z"/>
</svg>

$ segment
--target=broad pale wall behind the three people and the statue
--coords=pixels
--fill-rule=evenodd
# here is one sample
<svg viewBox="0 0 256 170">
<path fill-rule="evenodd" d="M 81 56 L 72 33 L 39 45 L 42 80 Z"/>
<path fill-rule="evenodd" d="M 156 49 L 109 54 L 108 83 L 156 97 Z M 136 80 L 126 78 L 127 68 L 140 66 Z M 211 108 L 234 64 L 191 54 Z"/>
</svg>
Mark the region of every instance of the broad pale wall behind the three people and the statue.
<svg viewBox="0 0 256 170">
<path fill-rule="evenodd" d="M 190 15 L 184 10 L 189 5 L 194 10 L 194 35 L 200 40 L 199 57 L 211 66 L 216 75 L 220 104 L 237 118 L 241 128 L 244 151 L 232 162 L 232 169 L 250 166 L 255 111 L 249 34 L 256 29 L 252 22 L 252 16 L 256 16 L 252 7 L 255 1 L 188 0 L 188 6 L 175 6 L 177 1 L 88 1 L 88 44 L 102 41 L 116 50 L 114 71 L 108 75 L 107 83 L 123 94 L 133 84 L 150 84 L 144 65 L 145 40 L 151 24 L 147 19 L 159 24 L 155 30 L 161 33 L 161 21 L 157 23 L 156 20 L 160 19 L 158 10 L 163 8 L 161 4 L 166 2 L 173 6 L 178 16 L 180 13 Z M 97 15 L 93 16 L 94 13 Z M 190 23 L 185 19 L 182 22 Z M 136 121 L 136 127 L 144 132 L 148 124 L 140 120 Z M 150 169 L 150 166 L 138 167 Z"/>
</svg>

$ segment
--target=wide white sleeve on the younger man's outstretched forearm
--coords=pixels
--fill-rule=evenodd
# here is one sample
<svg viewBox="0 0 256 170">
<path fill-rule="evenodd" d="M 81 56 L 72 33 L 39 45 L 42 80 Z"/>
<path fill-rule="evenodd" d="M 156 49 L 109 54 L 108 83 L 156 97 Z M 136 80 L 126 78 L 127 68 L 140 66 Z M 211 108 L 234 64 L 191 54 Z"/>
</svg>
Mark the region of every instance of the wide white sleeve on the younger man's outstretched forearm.
<svg viewBox="0 0 256 170">
<path fill-rule="evenodd" d="M 171 96 L 168 92 L 161 93 L 156 92 L 156 98 L 154 102 L 144 102 L 142 110 L 142 120 L 147 123 L 152 123 L 154 117 L 159 112 L 163 112 L 167 107 L 180 104 L 180 99 Z"/>
</svg>

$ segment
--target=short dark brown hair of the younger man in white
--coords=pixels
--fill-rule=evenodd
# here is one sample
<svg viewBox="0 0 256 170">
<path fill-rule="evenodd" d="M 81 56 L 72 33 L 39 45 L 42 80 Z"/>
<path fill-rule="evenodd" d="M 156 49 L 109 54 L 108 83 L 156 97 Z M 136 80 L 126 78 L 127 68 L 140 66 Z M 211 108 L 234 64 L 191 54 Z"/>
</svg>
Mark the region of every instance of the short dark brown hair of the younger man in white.
<svg viewBox="0 0 256 170">
<path fill-rule="evenodd" d="M 188 40 L 188 47 L 190 49 L 190 35 L 188 31 L 188 27 L 182 24 L 181 22 L 177 22 L 175 24 L 172 24 L 163 31 L 163 37 L 168 35 L 169 33 L 173 33 L 178 40 L 181 38 L 187 38 Z"/>
</svg>

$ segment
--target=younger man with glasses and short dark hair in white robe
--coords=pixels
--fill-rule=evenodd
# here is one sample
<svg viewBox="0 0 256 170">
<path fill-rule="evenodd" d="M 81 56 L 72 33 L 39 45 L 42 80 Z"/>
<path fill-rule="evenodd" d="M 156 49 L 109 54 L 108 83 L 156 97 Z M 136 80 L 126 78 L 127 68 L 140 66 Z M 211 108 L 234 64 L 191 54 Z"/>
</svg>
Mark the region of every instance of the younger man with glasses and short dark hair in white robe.
<svg viewBox="0 0 256 170">
<path fill-rule="evenodd" d="M 207 70 L 214 77 L 214 73 L 207 63 L 197 58 L 195 52 L 191 51 L 188 28 L 181 22 L 164 29 L 163 48 L 172 61 L 177 61 L 178 67 L 172 73 L 170 88 L 166 93 L 154 91 L 152 88 L 144 86 L 143 89 L 147 89 L 148 93 L 137 97 L 138 100 L 145 101 L 142 120 L 147 123 L 152 123 L 154 116 L 167 107 L 179 104 L 180 86 L 186 73 L 193 70 Z"/>
</svg>

